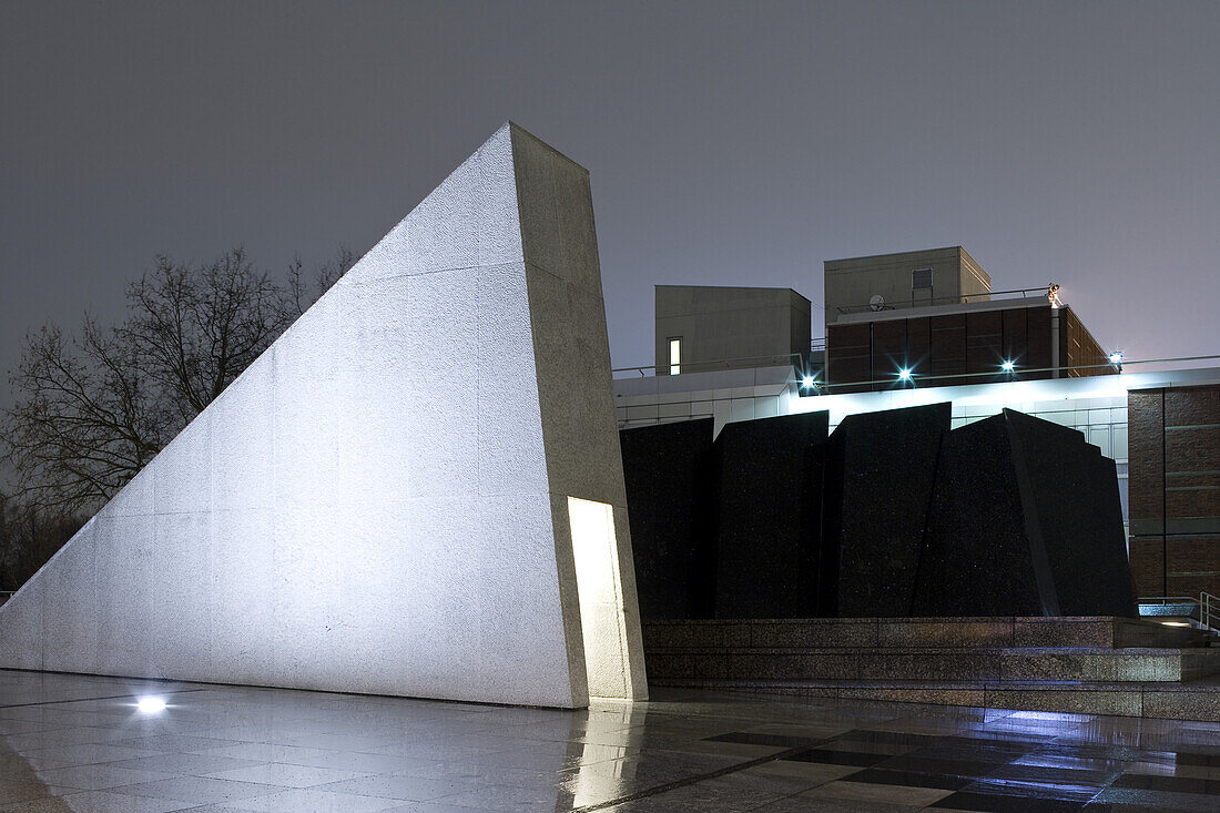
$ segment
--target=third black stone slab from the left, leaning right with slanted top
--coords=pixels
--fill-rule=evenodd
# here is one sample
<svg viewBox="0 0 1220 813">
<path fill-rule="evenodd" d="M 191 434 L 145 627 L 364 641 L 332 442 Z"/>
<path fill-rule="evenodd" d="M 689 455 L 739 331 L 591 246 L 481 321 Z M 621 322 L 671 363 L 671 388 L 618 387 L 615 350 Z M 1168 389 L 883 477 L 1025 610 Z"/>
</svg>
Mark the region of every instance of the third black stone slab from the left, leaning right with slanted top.
<svg viewBox="0 0 1220 813">
<path fill-rule="evenodd" d="M 824 615 L 910 615 L 949 404 L 847 416 L 827 443 Z"/>
</svg>

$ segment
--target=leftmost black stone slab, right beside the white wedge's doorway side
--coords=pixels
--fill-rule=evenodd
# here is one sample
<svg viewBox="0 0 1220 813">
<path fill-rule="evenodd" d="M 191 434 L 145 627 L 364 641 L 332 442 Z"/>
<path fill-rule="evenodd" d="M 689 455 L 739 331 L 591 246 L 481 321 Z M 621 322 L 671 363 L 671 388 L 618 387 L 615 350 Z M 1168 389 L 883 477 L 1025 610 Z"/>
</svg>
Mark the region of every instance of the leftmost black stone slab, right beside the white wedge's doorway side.
<svg viewBox="0 0 1220 813">
<path fill-rule="evenodd" d="M 622 470 L 639 614 L 711 618 L 712 420 L 622 430 Z"/>
</svg>

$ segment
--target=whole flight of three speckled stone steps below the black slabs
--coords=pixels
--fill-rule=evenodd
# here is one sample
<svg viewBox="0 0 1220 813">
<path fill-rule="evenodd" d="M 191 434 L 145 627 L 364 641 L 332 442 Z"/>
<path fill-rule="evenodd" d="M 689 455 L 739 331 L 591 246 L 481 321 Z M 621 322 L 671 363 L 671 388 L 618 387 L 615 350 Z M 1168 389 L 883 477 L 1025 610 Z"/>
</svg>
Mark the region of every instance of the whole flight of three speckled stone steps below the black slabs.
<svg viewBox="0 0 1220 813">
<path fill-rule="evenodd" d="M 1220 646 L 1126 618 L 645 621 L 655 686 L 1220 720 Z"/>
</svg>

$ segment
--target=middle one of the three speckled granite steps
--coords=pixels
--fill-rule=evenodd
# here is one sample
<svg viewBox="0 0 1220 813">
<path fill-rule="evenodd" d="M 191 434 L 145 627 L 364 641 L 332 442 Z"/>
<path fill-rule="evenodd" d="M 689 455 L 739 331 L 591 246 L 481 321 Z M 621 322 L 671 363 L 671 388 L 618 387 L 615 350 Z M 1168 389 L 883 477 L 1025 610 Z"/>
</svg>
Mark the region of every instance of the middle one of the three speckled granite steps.
<svg viewBox="0 0 1220 813">
<path fill-rule="evenodd" d="M 1220 675 L 1220 649 L 1105 647 L 645 648 L 650 680 L 1171 682 Z"/>
</svg>

